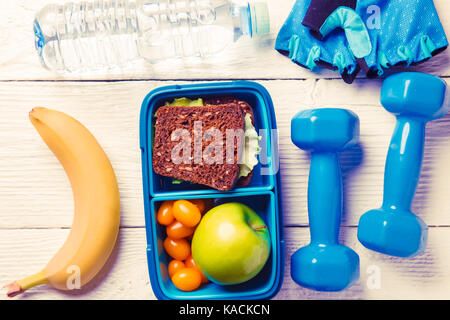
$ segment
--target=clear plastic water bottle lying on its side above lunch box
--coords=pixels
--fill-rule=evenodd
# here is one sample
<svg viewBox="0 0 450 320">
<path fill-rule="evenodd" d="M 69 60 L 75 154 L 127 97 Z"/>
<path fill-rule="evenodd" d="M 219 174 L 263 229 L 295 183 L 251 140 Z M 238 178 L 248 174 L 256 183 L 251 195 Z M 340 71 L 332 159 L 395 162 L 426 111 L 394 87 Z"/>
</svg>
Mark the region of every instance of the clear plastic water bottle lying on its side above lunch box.
<svg viewBox="0 0 450 320">
<path fill-rule="evenodd" d="M 204 57 L 243 35 L 269 32 L 264 0 L 67 2 L 45 6 L 34 21 L 40 60 L 60 73 Z"/>
</svg>

